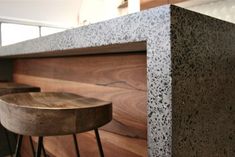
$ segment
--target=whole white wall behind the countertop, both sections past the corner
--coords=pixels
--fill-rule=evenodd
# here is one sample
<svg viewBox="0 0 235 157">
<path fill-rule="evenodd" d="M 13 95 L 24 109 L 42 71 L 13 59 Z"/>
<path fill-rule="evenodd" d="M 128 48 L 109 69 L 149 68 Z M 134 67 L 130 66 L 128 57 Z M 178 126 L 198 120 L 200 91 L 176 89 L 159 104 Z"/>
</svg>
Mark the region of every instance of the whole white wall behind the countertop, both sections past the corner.
<svg viewBox="0 0 235 157">
<path fill-rule="evenodd" d="M 0 0 L 0 18 L 77 27 L 127 13 L 123 0 Z"/>
</svg>

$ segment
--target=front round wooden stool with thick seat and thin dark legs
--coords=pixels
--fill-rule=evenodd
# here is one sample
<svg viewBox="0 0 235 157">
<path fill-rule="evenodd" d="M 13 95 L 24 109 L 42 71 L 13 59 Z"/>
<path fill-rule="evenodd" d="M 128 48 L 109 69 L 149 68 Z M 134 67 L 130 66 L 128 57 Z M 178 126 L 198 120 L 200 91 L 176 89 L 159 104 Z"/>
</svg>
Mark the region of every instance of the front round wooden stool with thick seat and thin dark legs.
<svg viewBox="0 0 235 157">
<path fill-rule="evenodd" d="M 104 156 L 98 128 L 112 120 L 112 103 L 70 93 L 20 93 L 1 97 L 0 115 L 8 130 L 39 136 L 36 157 L 41 155 L 43 136 L 69 134 L 79 157 L 75 134 L 90 130 L 95 130 L 100 156 Z"/>
</svg>

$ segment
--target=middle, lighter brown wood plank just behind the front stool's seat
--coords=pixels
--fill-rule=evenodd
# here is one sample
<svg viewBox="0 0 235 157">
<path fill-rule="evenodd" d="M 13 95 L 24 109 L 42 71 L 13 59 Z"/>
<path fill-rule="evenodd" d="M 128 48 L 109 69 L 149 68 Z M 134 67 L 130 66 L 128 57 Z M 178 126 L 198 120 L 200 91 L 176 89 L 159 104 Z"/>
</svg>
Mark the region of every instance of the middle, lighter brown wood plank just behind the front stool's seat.
<svg viewBox="0 0 235 157">
<path fill-rule="evenodd" d="M 42 91 L 64 91 L 104 101 L 112 101 L 113 121 L 104 129 L 129 137 L 146 139 L 146 92 L 20 74 L 14 74 L 13 77 L 16 82 L 38 85 Z"/>
</svg>

